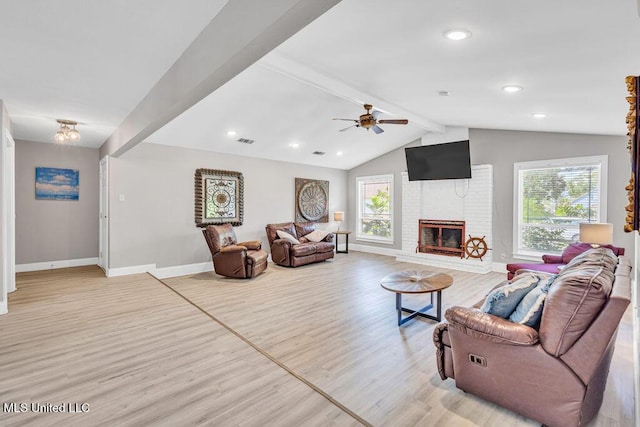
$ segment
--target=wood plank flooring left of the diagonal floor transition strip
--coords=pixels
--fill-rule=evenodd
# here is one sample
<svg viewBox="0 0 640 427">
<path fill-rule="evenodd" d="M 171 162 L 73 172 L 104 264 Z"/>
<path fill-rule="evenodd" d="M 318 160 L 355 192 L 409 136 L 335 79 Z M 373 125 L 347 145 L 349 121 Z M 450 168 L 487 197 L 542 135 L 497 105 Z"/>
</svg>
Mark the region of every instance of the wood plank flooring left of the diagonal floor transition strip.
<svg viewBox="0 0 640 427">
<path fill-rule="evenodd" d="M 20 274 L 0 318 L 0 425 L 358 425 L 149 275 Z"/>
</svg>

